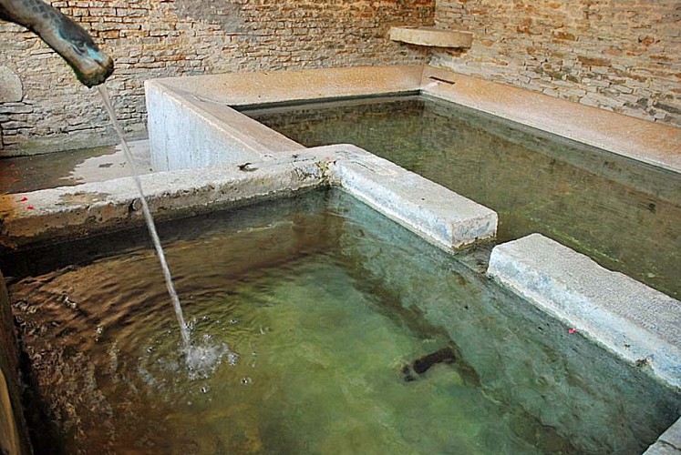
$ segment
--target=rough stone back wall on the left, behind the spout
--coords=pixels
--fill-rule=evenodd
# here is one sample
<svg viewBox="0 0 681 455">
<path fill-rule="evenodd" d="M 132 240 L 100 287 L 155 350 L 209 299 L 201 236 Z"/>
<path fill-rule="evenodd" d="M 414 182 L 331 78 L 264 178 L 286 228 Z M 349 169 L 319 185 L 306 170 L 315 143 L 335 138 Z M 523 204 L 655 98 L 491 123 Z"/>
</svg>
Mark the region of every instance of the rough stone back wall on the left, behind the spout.
<svg viewBox="0 0 681 455">
<path fill-rule="evenodd" d="M 123 126 L 143 136 L 143 81 L 233 71 L 428 61 L 387 39 L 432 25 L 433 0 L 58 0 L 116 61 L 108 83 Z M 0 23 L 0 155 L 116 142 L 97 90 L 39 38 Z"/>
</svg>

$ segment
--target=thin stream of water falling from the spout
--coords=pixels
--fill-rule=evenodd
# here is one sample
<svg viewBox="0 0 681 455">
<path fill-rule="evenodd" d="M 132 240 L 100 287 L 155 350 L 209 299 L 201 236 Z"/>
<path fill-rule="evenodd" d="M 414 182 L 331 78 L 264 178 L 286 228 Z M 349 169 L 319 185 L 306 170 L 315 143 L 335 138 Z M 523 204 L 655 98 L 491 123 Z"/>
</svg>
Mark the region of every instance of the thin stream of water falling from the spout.
<svg viewBox="0 0 681 455">
<path fill-rule="evenodd" d="M 163 253 L 163 247 L 160 245 L 159 234 L 156 232 L 156 225 L 154 224 L 154 218 L 151 217 L 151 212 L 149 209 L 149 204 L 147 204 L 147 198 L 144 197 L 144 191 L 142 190 L 142 184 L 139 180 L 139 173 L 137 167 L 135 167 L 135 162 L 132 159 L 132 153 L 128 147 L 128 143 L 123 136 L 123 130 L 119 125 L 118 118 L 116 117 L 116 111 L 114 111 L 113 105 L 111 104 L 111 99 L 108 96 L 107 87 L 104 85 L 98 86 L 99 95 L 102 96 L 104 101 L 104 106 L 107 108 L 108 116 L 111 118 L 111 123 L 116 129 L 116 133 L 119 135 L 120 146 L 123 148 L 123 153 L 128 161 L 130 167 L 130 174 L 135 181 L 135 186 L 139 192 L 139 200 L 142 202 L 142 213 L 144 213 L 144 220 L 147 222 L 147 227 L 149 228 L 149 233 L 151 240 L 154 243 L 154 248 L 156 248 L 156 254 L 159 257 L 160 267 L 163 269 L 163 277 L 166 281 L 166 288 L 168 288 L 168 294 L 170 295 L 170 301 L 172 302 L 173 308 L 175 308 L 175 315 L 177 316 L 178 323 L 180 324 L 180 333 L 182 336 L 182 347 L 187 352 L 188 362 L 190 361 L 191 354 L 191 340 L 189 330 L 187 329 L 187 324 L 184 322 L 184 316 L 182 315 L 182 306 L 180 303 L 180 298 L 175 290 L 175 286 L 172 282 L 172 276 L 170 275 L 170 268 L 168 267 L 168 262 L 166 261 L 166 255 Z"/>
</svg>

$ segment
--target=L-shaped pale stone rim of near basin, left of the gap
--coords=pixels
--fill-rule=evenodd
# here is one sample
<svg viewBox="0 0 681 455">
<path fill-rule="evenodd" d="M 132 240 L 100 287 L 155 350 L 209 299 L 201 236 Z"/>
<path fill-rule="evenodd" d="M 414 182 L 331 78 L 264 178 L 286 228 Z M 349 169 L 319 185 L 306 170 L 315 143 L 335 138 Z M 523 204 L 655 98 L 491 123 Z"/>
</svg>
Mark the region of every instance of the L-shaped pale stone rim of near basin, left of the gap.
<svg viewBox="0 0 681 455">
<path fill-rule="evenodd" d="M 355 146 L 281 152 L 241 165 L 148 174 L 140 181 L 159 220 L 333 185 L 439 248 L 494 238 L 497 229 L 497 214 L 489 208 Z M 30 248 L 138 226 L 139 207 L 131 177 L 3 196 L 0 247 Z"/>
</svg>

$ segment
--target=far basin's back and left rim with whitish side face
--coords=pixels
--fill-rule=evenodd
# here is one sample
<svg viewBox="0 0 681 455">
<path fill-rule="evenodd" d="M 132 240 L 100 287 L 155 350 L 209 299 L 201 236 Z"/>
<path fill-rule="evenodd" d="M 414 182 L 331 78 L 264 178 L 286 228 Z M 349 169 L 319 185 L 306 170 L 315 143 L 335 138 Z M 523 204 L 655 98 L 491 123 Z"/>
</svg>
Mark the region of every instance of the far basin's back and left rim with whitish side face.
<svg viewBox="0 0 681 455">
<path fill-rule="evenodd" d="M 231 106 L 414 92 L 422 71 L 422 66 L 326 68 L 147 81 L 151 162 L 167 171 L 304 149 Z"/>
</svg>

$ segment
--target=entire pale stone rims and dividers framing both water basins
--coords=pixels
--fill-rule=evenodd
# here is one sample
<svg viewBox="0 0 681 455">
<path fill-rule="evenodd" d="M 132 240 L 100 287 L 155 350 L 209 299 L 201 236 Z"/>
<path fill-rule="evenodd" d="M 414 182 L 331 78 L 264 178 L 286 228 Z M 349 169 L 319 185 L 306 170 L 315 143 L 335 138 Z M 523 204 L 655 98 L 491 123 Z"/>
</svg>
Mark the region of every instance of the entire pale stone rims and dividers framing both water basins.
<svg viewBox="0 0 681 455">
<path fill-rule="evenodd" d="M 359 147 L 303 147 L 234 109 L 410 93 L 681 172 L 676 128 L 429 66 L 195 76 L 146 84 L 152 166 L 161 171 L 141 177 L 152 213 L 160 220 L 187 217 L 332 186 L 444 250 L 493 240 L 497 214 L 489 208 Z M 20 209 L 22 197 L 5 196 L 0 202 L 4 248 L 142 224 L 130 178 L 32 192 L 31 211 Z M 632 364 L 647 359 L 655 378 L 681 389 L 681 303 L 676 299 L 538 234 L 493 248 L 487 275 L 615 356 Z M 650 453 L 680 434 L 681 420 Z"/>
</svg>

